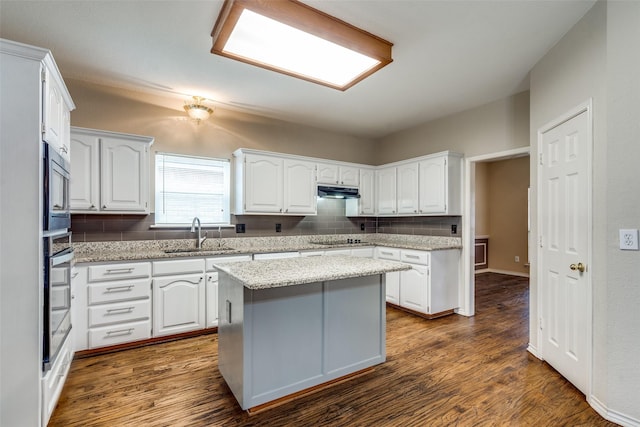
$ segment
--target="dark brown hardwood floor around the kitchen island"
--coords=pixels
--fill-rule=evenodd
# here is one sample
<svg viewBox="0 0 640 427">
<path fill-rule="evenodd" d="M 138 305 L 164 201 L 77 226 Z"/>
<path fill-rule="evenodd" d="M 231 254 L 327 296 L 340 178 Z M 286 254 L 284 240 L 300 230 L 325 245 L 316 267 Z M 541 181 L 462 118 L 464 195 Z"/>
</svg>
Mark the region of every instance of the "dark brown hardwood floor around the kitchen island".
<svg viewBox="0 0 640 427">
<path fill-rule="evenodd" d="M 217 369 L 217 335 L 73 361 L 49 426 L 614 426 L 530 355 L 528 280 L 476 279 L 476 315 L 387 309 L 387 362 L 255 415 Z"/>
</svg>

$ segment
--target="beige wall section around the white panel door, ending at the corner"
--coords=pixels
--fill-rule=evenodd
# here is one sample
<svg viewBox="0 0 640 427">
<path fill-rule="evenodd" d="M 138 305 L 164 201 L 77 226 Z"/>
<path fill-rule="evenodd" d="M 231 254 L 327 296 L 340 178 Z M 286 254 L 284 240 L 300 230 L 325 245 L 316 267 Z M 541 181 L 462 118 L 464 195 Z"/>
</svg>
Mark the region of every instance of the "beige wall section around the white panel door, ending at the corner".
<svg viewBox="0 0 640 427">
<path fill-rule="evenodd" d="M 560 42 L 531 70 L 531 212 L 537 211 L 538 129 L 567 111 L 593 99 L 593 221 L 594 263 L 589 268 L 593 283 L 594 354 L 593 394 L 607 402 L 607 317 L 606 281 L 606 2 L 598 2 Z M 535 215 L 531 235 L 538 236 Z M 530 343 L 538 346 L 537 252 L 529 254 L 530 275 Z"/>
</svg>

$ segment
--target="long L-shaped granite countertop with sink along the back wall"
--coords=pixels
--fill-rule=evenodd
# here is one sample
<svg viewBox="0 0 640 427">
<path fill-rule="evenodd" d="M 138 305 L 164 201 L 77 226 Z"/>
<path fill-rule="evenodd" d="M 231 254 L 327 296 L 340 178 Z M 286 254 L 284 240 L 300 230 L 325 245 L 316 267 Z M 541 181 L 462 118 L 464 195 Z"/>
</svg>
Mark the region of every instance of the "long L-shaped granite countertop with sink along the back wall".
<svg viewBox="0 0 640 427">
<path fill-rule="evenodd" d="M 360 243 L 347 243 L 347 239 Z M 337 248 L 388 246 L 401 249 L 435 251 L 460 249 L 459 237 L 408 236 L 401 234 L 349 234 L 316 236 L 238 237 L 207 239 L 196 250 L 194 239 L 138 240 L 74 243 L 75 261 L 110 262 L 150 259 L 213 257 L 225 255 L 321 251 Z"/>
</svg>

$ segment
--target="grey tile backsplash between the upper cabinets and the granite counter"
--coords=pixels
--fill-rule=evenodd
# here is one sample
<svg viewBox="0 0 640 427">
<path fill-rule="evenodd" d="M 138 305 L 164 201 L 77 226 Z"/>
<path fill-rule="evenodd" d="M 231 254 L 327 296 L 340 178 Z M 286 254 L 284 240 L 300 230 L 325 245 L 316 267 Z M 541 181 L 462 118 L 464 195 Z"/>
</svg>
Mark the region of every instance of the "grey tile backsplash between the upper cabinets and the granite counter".
<svg viewBox="0 0 640 427">
<path fill-rule="evenodd" d="M 245 224 L 245 233 L 235 228 L 222 229 L 222 237 L 296 236 L 320 234 L 412 234 L 430 236 L 461 236 L 461 217 L 346 217 L 345 201 L 318 199 L 318 214 L 314 216 L 231 215 L 232 224 Z M 71 216 L 74 242 L 119 240 L 165 240 L 193 237 L 189 228 L 153 228 L 155 217 L 150 215 L 86 215 Z M 280 232 L 276 232 L 280 224 Z M 361 229 L 364 225 L 364 231 Z M 451 233 L 451 226 L 457 233 Z M 217 237 L 217 227 L 203 230 Z"/>
</svg>

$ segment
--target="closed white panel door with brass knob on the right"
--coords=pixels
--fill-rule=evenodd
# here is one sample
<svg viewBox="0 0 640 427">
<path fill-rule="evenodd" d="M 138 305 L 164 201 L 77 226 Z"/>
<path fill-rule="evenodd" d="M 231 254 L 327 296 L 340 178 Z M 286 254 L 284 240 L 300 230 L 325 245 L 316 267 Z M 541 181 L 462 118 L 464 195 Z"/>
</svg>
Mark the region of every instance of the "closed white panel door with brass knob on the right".
<svg viewBox="0 0 640 427">
<path fill-rule="evenodd" d="M 590 351 L 587 115 L 542 134 L 539 165 L 541 355 L 583 393 Z"/>
</svg>

